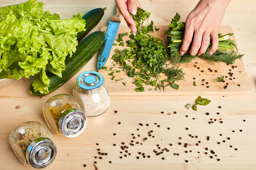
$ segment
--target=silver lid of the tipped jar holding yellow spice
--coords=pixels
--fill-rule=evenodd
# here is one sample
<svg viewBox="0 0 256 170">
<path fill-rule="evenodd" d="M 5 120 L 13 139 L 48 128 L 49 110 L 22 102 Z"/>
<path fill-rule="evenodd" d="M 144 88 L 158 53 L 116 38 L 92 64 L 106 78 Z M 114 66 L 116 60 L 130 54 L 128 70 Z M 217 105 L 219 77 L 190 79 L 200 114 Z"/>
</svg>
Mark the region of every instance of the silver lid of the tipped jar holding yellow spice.
<svg viewBox="0 0 256 170">
<path fill-rule="evenodd" d="M 59 120 L 59 129 L 66 137 L 77 137 L 80 135 L 87 124 L 84 113 L 78 109 L 68 109 Z"/>
</svg>

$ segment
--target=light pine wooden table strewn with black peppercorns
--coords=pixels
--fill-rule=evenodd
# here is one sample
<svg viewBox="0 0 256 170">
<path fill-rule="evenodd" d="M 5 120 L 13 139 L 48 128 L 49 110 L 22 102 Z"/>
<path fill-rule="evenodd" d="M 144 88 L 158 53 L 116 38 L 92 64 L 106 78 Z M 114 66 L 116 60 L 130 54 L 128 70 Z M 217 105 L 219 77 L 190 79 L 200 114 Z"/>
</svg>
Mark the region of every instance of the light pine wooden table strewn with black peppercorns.
<svg viewBox="0 0 256 170">
<path fill-rule="evenodd" d="M 0 6 L 22 2 L 22 0 L 2 0 Z M 70 18 L 77 12 L 86 13 L 94 8 L 107 7 L 100 24 L 92 32 L 99 30 L 102 26 L 107 26 L 116 8 L 114 1 L 110 0 L 73 0 L 72 3 L 67 0 L 42 0 L 42 2 L 45 3 L 44 11 L 56 12 L 61 18 Z M 148 2 L 141 0 L 140 3 L 144 9 L 151 12 L 150 19 L 155 25 L 166 25 L 169 24 L 175 12 L 179 12 L 181 19 L 185 20 L 197 1 L 151 0 Z M 212 102 L 207 106 L 199 106 L 196 112 L 186 109 L 184 105 L 193 104 L 200 94 L 196 96 L 111 96 L 111 106 L 108 111 L 99 117 L 88 117 L 87 127 L 82 135 L 76 138 L 53 135 L 42 114 L 45 101 L 58 93 L 72 94 L 74 84 L 70 82 L 74 82 L 77 75 L 84 71 L 96 70 L 98 58 L 96 54 L 68 83 L 42 98 L 32 96 L 28 92 L 33 78 L 15 81 L 0 90 L 0 169 L 33 169 L 31 166 L 20 164 L 9 143 L 12 130 L 20 123 L 32 120 L 43 123 L 58 148 L 55 161 L 46 169 L 256 169 L 254 146 L 256 142 L 255 5 L 254 0 L 246 2 L 233 0 L 222 21 L 222 25 L 229 25 L 233 28 L 239 49 L 245 54 L 243 61 L 252 85 L 251 94 L 225 95 L 225 97 L 204 95 L 202 97 Z M 121 25 L 126 25 L 124 20 Z M 20 106 L 19 109 L 15 108 L 17 105 Z M 116 114 L 115 110 L 118 111 Z M 164 114 L 161 114 L 162 111 Z M 177 114 L 174 114 L 174 111 Z M 205 115 L 206 112 L 210 115 Z M 217 115 L 217 112 L 220 112 L 220 115 Z M 192 119 L 193 117 L 195 120 Z M 217 121 L 208 124 L 210 118 L 213 121 L 217 119 Z M 223 121 L 222 124 L 220 119 Z M 119 125 L 118 122 L 121 124 Z M 161 126 L 158 128 L 155 122 Z M 147 123 L 149 126 L 146 126 Z M 170 130 L 167 129 L 168 127 Z M 186 127 L 189 129 L 186 130 Z M 137 128 L 140 130 L 137 131 Z M 240 129 L 243 131 L 240 132 Z M 152 135 L 155 138 L 148 136 L 150 130 L 154 131 Z M 117 135 L 113 136 L 113 133 Z M 134 133 L 136 139 L 132 139 L 131 133 Z M 219 135 L 220 133 L 222 136 Z M 138 134 L 140 137 L 137 136 Z M 198 138 L 191 138 L 188 134 L 197 135 Z M 207 136 L 210 136 L 209 141 L 206 140 Z M 148 140 L 143 142 L 145 137 L 148 137 Z M 230 140 L 227 137 L 230 137 Z M 131 140 L 134 140 L 134 146 L 130 145 Z M 196 146 L 199 140 L 201 143 Z M 222 140 L 226 142 L 223 143 Z M 137 141 L 143 145 L 136 144 Z M 131 156 L 124 157 L 125 152 L 120 153 L 123 151 L 120 148 L 122 142 L 129 146 L 128 153 L 131 153 Z M 99 146 L 96 143 L 99 143 Z M 116 146 L 113 146 L 114 143 Z M 170 146 L 170 143 L 173 145 Z M 184 147 L 184 143 L 188 143 L 187 148 Z M 164 151 L 164 154 L 156 156 L 153 153 L 154 149 L 158 151 L 156 144 L 159 144 L 161 149 L 169 149 L 170 152 Z M 230 148 L 230 145 L 233 147 Z M 205 147 L 209 150 L 206 151 Z M 107 156 L 102 156 L 101 160 L 97 153 L 98 148 L 101 152 L 108 153 Z M 235 151 L 235 148 L 238 150 Z M 190 150 L 192 152 L 189 152 Z M 210 150 L 214 150 L 217 157 L 211 154 Z M 146 156 L 150 155 L 150 158 L 144 159 L 138 152 L 145 153 Z M 180 155 L 175 156 L 174 153 Z M 98 158 L 94 159 L 94 156 Z M 120 156 L 123 156 L 123 159 L 120 159 Z M 136 159 L 137 156 L 140 159 Z M 213 159 L 210 156 L 213 156 Z M 163 160 L 162 157 L 165 159 Z M 185 160 L 188 160 L 188 163 L 185 163 Z M 94 164 L 94 161 L 97 161 L 97 164 Z M 109 161 L 112 161 L 112 164 L 109 164 Z M 84 167 L 84 164 L 87 166 Z"/>
</svg>

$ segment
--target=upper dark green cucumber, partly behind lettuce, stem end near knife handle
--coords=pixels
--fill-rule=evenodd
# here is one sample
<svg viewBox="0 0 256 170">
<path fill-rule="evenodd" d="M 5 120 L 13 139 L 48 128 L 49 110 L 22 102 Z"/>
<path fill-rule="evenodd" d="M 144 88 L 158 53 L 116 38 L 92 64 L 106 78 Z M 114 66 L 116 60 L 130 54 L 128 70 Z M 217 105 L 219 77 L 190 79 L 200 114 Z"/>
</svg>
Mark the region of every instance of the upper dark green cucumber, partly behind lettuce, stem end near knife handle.
<svg viewBox="0 0 256 170">
<path fill-rule="evenodd" d="M 100 22 L 101 18 L 104 15 L 104 11 L 107 8 L 96 8 L 93 9 L 89 12 L 87 12 L 84 16 L 83 19 L 85 19 L 85 31 L 81 31 L 79 33 L 77 33 L 77 41 L 80 42 L 81 40 L 83 40 L 83 38 L 85 37 L 85 35 L 87 35 L 95 26 L 97 26 L 97 24 Z"/>
</svg>

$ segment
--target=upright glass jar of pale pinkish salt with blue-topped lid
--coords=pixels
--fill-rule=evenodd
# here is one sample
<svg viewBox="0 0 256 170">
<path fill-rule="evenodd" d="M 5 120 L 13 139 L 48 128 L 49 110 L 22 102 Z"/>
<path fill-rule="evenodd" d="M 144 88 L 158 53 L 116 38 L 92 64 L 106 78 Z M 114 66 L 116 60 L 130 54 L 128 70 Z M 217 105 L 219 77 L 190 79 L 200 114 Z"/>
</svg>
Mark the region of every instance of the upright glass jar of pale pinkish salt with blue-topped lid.
<svg viewBox="0 0 256 170">
<path fill-rule="evenodd" d="M 99 116 L 110 106 L 110 96 L 103 76 L 96 71 L 86 71 L 76 79 L 73 96 L 86 116 Z"/>
</svg>

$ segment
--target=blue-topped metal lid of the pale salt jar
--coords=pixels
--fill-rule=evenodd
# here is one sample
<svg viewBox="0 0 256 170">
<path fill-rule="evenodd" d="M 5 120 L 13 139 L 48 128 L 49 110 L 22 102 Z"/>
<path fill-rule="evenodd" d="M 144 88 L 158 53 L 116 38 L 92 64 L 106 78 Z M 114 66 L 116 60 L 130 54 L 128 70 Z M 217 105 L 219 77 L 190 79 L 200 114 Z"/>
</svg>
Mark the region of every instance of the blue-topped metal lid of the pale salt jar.
<svg viewBox="0 0 256 170">
<path fill-rule="evenodd" d="M 103 89 L 104 78 L 96 71 L 86 71 L 78 76 L 76 84 L 79 92 L 94 94 Z"/>
</svg>

